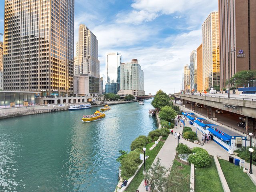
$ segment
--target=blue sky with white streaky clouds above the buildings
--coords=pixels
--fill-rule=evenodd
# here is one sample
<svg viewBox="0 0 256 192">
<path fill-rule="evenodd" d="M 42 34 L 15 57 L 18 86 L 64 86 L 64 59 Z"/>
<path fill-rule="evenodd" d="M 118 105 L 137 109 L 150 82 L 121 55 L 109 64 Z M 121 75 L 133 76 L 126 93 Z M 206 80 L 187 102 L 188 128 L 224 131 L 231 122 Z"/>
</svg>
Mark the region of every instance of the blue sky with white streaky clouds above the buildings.
<svg viewBox="0 0 256 192">
<path fill-rule="evenodd" d="M 98 39 L 101 76 L 106 76 L 106 53 L 117 51 L 123 62 L 138 59 L 146 94 L 179 92 L 183 67 L 202 43 L 202 24 L 213 11 L 218 0 L 75 0 L 74 44 L 79 24 L 85 24 Z"/>
</svg>

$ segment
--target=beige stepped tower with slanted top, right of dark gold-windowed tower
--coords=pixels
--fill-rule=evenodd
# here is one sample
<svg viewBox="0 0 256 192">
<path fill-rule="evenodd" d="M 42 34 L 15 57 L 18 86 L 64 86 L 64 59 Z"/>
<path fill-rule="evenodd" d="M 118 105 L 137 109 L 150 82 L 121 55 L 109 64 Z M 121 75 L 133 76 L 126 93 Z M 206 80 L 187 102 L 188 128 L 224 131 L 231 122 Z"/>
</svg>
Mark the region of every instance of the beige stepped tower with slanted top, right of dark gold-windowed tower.
<svg viewBox="0 0 256 192">
<path fill-rule="evenodd" d="M 74 94 L 95 96 L 102 93 L 100 61 L 98 60 L 98 40 L 84 25 L 79 26 L 78 73 L 74 74 Z"/>
</svg>

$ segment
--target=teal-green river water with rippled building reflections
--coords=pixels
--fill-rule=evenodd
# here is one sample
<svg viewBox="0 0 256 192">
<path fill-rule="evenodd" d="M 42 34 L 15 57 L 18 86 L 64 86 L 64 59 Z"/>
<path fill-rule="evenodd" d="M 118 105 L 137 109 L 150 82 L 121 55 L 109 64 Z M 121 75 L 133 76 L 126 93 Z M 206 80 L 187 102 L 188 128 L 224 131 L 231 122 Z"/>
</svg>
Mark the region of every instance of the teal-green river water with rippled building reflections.
<svg viewBox="0 0 256 192">
<path fill-rule="evenodd" d="M 93 122 L 81 118 L 98 108 L 0 120 L 0 191 L 113 192 L 119 150 L 157 128 L 151 101 L 112 105 Z"/>
</svg>

